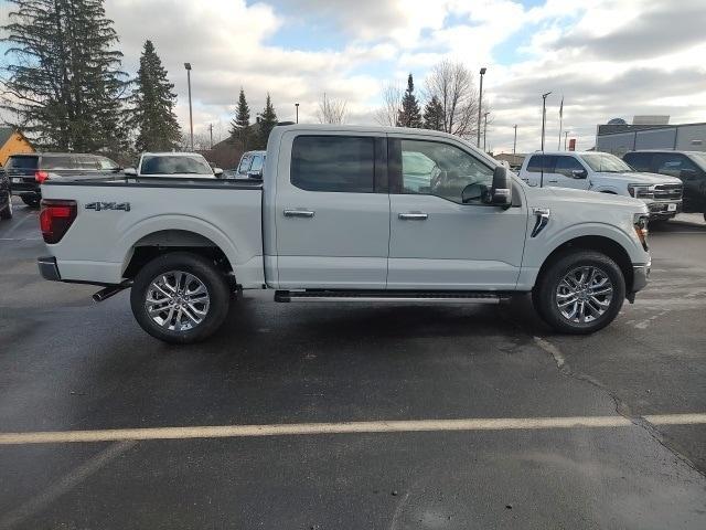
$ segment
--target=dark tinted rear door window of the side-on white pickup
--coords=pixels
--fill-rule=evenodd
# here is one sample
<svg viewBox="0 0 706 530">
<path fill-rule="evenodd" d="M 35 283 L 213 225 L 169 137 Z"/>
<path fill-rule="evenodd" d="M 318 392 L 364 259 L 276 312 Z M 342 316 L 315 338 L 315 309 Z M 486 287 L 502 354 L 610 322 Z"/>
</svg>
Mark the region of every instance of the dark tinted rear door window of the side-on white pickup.
<svg viewBox="0 0 706 530">
<path fill-rule="evenodd" d="M 291 149 L 290 180 L 308 191 L 373 193 L 375 139 L 298 136 Z"/>
</svg>

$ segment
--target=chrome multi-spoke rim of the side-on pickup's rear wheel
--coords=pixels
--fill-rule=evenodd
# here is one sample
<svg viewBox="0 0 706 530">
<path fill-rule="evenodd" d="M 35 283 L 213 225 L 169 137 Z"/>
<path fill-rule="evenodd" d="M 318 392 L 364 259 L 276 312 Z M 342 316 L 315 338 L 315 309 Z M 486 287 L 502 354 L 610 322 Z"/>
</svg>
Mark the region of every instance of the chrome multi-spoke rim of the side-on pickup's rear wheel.
<svg viewBox="0 0 706 530">
<path fill-rule="evenodd" d="M 208 289 L 196 276 L 182 271 L 160 274 L 147 289 L 145 309 L 150 318 L 171 331 L 195 328 L 208 314 Z"/>
</svg>

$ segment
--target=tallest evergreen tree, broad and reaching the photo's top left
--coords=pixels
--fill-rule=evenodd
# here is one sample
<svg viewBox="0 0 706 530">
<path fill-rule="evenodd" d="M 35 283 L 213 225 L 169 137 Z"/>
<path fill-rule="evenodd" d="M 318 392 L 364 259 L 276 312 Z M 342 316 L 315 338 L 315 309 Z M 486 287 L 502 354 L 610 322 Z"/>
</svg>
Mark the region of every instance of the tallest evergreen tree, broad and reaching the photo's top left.
<svg viewBox="0 0 706 530">
<path fill-rule="evenodd" d="M 9 0 L 2 108 L 41 148 L 119 152 L 126 74 L 104 0 Z"/>
</svg>

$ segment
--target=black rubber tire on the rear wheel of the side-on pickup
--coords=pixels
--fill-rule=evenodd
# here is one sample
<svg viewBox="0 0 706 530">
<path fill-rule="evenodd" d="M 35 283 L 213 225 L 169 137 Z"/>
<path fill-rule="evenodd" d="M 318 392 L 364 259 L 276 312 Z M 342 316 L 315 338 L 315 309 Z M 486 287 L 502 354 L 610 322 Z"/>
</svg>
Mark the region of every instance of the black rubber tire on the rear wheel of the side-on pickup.
<svg viewBox="0 0 706 530">
<path fill-rule="evenodd" d="M 148 295 L 152 295 L 152 298 L 150 299 L 153 299 L 154 295 L 159 297 L 162 296 L 152 287 L 152 282 L 157 282 L 162 275 L 169 276 L 168 273 L 191 275 L 195 278 L 194 284 L 192 285 L 201 283 L 202 286 L 205 286 L 208 305 L 205 306 L 202 303 L 194 303 L 196 305 L 202 304 L 197 307 L 200 310 L 204 310 L 205 312 L 199 324 L 193 324 L 190 320 L 191 315 L 196 314 L 191 310 L 194 308 L 193 305 L 191 306 L 191 309 L 186 307 L 189 305 L 189 301 L 185 301 L 188 298 L 188 285 L 184 285 L 184 293 L 181 295 L 178 295 L 174 292 L 173 296 L 178 296 L 178 299 L 172 298 L 172 301 L 170 301 L 170 299 L 163 297 L 162 301 L 162 304 L 182 304 L 181 308 L 183 309 L 183 312 L 178 310 L 178 315 L 172 315 L 171 312 L 168 312 L 169 307 L 165 306 L 161 314 L 153 314 L 156 318 L 167 322 L 162 325 L 153 320 L 152 316 L 148 314 Z M 223 272 L 220 271 L 212 261 L 188 252 L 164 254 L 149 262 L 135 277 L 132 292 L 130 293 L 132 315 L 135 315 L 135 319 L 138 321 L 140 327 L 157 339 L 179 344 L 197 342 L 216 332 L 228 314 L 229 303 L 231 293 Z M 159 310 L 159 307 L 162 306 L 152 307 L 157 307 L 157 310 Z M 189 329 L 169 329 L 172 325 L 174 328 L 181 326 L 180 324 L 173 324 L 174 319 L 179 319 L 179 316 L 181 316 L 182 319 L 185 318 L 184 326 L 192 325 L 193 327 Z"/>
</svg>

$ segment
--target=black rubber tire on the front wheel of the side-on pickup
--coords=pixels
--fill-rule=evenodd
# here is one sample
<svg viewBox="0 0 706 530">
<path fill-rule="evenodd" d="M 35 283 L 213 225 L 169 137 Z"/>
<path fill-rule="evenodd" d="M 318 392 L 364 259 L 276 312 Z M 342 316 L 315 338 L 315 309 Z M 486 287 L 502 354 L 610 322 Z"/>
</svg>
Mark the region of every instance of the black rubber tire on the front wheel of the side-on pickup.
<svg viewBox="0 0 706 530">
<path fill-rule="evenodd" d="M 584 293 L 576 295 L 579 299 L 577 307 L 580 308 L 580 312 L 575 317 L 577 319 L 575 321 L 567 318 L 558 307 L 560 297 L 573 295 L 560 294 L 559 290 L 561 289 L 563 293 L 566 293 L 569 284 L 563 283 L 565 277 L 573 273 L 581 274 L 581 267 L 586 267 L 588 271 L 595 269 L 597 278 L 607 278 L 610 282 L 610 287 L 612 287 L 612 293 L 610 297 L 598 294 L 601 290 L 606 290 L 606 287 L 602 289 L 595 287 L 595 293 L 598 294 L 597 297 L 584 298 L 582 305 L 580 299 L 581 297 L 589 297 L 589 292 L 584 289 Z M 581 289 L 578 288 L 578 290 Z M 605 254 L 582 250 L 570 251 L 558 257 L 542 272 L 532 292 L 532 301 L 539 317 L 556 331 L 571 335 L 587 335 L 605 328 L 618 316 L 624 299 L 625 278 L 618 264 Z M 606 304 L 606 307 L 601 307 L 599 303 Z M 567 308 L 567 311 L 571 307 Z M 603 310 L 603 312 L 597 315 L 600 310 Z M 589 315 L 584 315 L 585 312 L 589 312 Z M 584 315 L 584 317 L 581 318 L 580 315 Z M 588 318 L 590 320 L 587 320 Z"/>
</svg>

